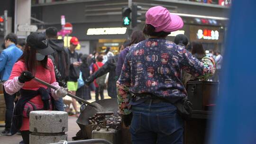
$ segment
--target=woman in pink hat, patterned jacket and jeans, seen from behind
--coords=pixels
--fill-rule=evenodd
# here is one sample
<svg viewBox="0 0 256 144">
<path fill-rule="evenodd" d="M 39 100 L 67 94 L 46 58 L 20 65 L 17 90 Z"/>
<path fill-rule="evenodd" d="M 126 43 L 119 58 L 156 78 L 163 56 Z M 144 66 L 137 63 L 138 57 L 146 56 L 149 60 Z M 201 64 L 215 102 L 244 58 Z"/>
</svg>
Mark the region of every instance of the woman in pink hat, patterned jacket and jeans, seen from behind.
<svg viewBox="0 0 256 144">
<path fill-rule="evenodd" d="M 184 117 L 175 106 L 187 97 L 181 70 L 201 80 L 214 73 L 214 60 L 204 57 L 199 62 L 183 46 L 165 39 L 182 27 L 182 18 L 166 8 L 148 9 L 143 33 L 150 38 L 126 56 L 117 81 L 118 103 L 133 144 L 183 144 Z"/>
</svg>

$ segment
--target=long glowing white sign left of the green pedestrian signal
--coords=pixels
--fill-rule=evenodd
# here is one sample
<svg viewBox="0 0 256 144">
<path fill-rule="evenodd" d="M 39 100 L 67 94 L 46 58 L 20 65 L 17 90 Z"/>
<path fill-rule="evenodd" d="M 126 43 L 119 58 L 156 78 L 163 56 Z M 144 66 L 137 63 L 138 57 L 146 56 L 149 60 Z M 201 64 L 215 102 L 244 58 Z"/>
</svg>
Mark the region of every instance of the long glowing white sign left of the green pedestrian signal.
<svg viewBox="0 0 256 144">
<path fill-rule="evenodd" d="M 124 35 L 127 27 L 89 28 L 87 35 Z"/>
</svg>

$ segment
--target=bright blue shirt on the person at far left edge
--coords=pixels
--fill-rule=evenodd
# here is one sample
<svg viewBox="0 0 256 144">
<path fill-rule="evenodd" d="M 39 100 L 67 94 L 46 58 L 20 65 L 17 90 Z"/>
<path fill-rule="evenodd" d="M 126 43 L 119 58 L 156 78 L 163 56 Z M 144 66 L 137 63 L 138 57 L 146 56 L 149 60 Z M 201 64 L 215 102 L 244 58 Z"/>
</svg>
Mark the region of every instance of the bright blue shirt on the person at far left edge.
<svg viewBox="0 0 256 144">
<path fill-rule="evenodd" d="M 9 45 L 0 54 L 0 74 L 1 80 L 7 81 L 9 79 L 12 67 L 17 62 L 18 58 L 23 54 L 16 45 Z"/>
</svg>

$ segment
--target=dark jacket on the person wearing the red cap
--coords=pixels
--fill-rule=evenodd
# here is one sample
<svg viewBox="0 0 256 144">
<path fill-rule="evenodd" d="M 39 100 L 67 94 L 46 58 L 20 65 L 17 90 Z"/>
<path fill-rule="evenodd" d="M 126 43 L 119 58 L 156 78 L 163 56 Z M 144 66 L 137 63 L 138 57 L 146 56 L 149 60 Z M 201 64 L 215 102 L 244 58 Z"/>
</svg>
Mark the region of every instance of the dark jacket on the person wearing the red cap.
<svg viewBox="0 0 256 144">
<path fill-rule="evenodd" d="M 74 53 L 71 53 L 69 49 L 67 49 L 68 55 L 69 55 L 69 80 L 68 81 L 74 81 L 77 82 L 77 79 L 79 78 L 80 74 L 80 67 L 74 67 L 74 62 L 79 62 L 79 56 L 76 51 Z"/>
</svg>

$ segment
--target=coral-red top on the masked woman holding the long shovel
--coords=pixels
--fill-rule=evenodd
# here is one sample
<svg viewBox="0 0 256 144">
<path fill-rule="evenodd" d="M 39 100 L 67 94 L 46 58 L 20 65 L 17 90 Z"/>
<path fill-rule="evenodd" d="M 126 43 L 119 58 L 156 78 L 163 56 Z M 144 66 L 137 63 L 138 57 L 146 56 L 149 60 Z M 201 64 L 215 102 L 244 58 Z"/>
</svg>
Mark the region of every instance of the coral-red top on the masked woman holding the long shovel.
<svg viewBox="0 0 256 144">
<path fill-rule="evenodd" d="M 14 77 L 20 76 L 21 72 L 27 70 L 25 67 L 26 66 L 25 66 L 24 62 L 18 61 L 17 63 L 15 63 L 12 68 L 12 72 L 9 77 L 9 80 L 14 79 Z M 53 62 L 49 58 L 48 58 L 48 62 L 47 62 L 47 67 L 48 67 L 48 70 L 45 69 L 41 65 L 37 66 L 35 77 L 37 77 L 38 79 L 40 79 L 42 81 L 46 81 L 47 83 L 53 83 L 56 81 L 55 72 L 54 72 Z M 25 82 L 22 89 L 38 90 L 39 87 L 43 87 L 43 88 L 47 89 L 47 86 L 45 86 L 37 81 L 34 81 L 34 80 Z M 30 99 L 30 101 L 37 105 L 41 105 L 41 106 L 44 105 L 40 95 L 37 95 L 33 99 Z M 20 128 L 20 131 L 25 131 L 25 130 L 29 130 L 29 118 L 28 117 L 23 117 L 22 126 Z"/>
</svg>

